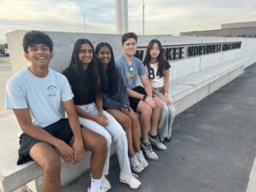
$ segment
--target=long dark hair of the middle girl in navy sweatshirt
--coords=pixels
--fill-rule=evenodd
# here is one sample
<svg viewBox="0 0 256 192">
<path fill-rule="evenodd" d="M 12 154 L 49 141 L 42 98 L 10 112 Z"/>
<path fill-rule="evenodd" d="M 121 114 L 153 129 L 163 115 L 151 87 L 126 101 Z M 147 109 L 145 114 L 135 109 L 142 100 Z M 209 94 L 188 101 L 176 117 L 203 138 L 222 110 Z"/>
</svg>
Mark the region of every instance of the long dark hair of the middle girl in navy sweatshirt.
<svg viewBox="0 0 256 192">
<path fill-rule="evenodd" d="M 111 54 L 111 59 L 108 63 L 108 68 L 107 68 L 108 82 L 106 82 L 106 80 L 104 79 L 102 62 L 97 59 L 99 71 L 100 71 L 100 75 L 101 75 L 102 91 L 104 92 L 104 90 L 106 89 L 106 86 L 104 86 L 104 84 L 108 83 L 109 93 L 110 93 L 110 95 L 113 95 L 118 90 L 118 80 L 117 80 L 118 72 L 117 72 L 117 68 L 115 67 L 115 62 L 114 62 L 114 57 L 113 57 L 113 49 L 112 49 L 111 45 L 106 42 L 97 44 L 96 49 L 95 49 L 96 55 L 99 54 L 102 47 L 108 47 L 108 49 L 110 50 L 110 54 Z"/>
</svg>

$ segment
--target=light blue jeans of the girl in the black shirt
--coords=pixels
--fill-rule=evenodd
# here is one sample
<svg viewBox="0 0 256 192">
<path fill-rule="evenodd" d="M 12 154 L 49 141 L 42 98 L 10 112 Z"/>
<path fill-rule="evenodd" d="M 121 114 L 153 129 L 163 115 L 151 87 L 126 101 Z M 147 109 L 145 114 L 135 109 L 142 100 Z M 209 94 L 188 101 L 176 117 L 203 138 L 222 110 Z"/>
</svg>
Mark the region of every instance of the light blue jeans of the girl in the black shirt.
<svg viewBox="0 0 256 192">
<path fill-rule="evenodd" d="M 96 108 L 95 102 L 92 102 L 88 105 L 78 105 L 79 108 L 84 110 L 87 113 L 97 115 L 98 109 Z M 125 174 L 131 174 L 131 166 L 128 157 L 128 143 L 126 133 L 123 130 L 122 126 L 119 125 L 118 121 L 113 118 L 111 114 L 103 110 L 103 114 L 108 118 L 108 125 L 103 127 L 99 125 L 93 120 L 85 119 L 79 117 L 79 122 L 84 127 L 88 128 L 91 131 L 94 131 L 103 137 L 106 138 L 108 142 L 108 152 L 107 157 L 105 160 L 105 165 L 103 169 L 103 175 L 108 175 L 108 168 L 109 168 L 109 156 L 110 156 L 110 146 L 113 143 L 116 147 L 116 153 L 119 160 L 120 172 Z"/>
</svg>

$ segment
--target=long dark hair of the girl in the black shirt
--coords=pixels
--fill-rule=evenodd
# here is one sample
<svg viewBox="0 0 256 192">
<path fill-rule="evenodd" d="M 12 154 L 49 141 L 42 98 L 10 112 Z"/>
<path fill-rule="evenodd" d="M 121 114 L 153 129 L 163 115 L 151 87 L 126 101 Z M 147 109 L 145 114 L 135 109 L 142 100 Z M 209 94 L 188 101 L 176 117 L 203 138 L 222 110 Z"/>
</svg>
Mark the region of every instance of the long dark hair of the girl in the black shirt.
<svg viewBox="0 0 256 192">
<path fill-rule="evenodd" d="M 82 44 L 89 44 L 92 49 L 92 60 L 90 61 L 88 68 L 86 71 L 84 71 L 84 67 L 82 64 L 82 61 L 79 59 L 79 52 L 81 49 Z M 78 78 L 80 79 L 80 82 L 83 82 L 82 79 L 85 75 L 89 75 L 91 81 L 95 84 L 95 91 L 96 95 L 101 95 L 101 89 L 100 89 L 100 79 L 99 79 L 99 72 L 98 67 L 96 63 L 96 55 L 94 53 L 94 47 L 91 44 L 90 40 L 86 38 L 79 38 L 76 43 L 73 45 L 73 53 L 71 56 L 71 61 L 69 63 L 69 67 L 74 67 L 75 71 L 78 75 Z M 84 86 L 86 84 L 79 84 L 80 90 L 84 89 Z"/>
</svg>

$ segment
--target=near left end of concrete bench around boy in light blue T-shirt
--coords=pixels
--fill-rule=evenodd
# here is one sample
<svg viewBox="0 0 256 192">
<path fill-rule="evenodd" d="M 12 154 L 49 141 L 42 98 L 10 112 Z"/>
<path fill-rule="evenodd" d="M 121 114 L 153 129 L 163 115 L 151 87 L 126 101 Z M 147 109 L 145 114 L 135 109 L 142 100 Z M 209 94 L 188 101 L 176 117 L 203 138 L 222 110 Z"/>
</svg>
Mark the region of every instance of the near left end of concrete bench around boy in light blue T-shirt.
<svg viewBox="0 0 256 192">
<path fill-rule="evenodd" d="M 21 192 L 23 185 L 28 183 L 32 191 L 40 191 L 42 183 L 42 171 L 33 162 L 17 166 L 19 139 L 17 137 L 17 122 L 14 115 L 1 119 L 1 124 L 8 129 L 1 129 L 0 140 L 0 191 L 1 192 Z M 61 160 L 61 182 L 69 183 L 88 169 L 90 163 L 90 152 L 86 152 L 83 160 L 78 165 L 73 166 Z M 36 180 L 35 180 L 36 179 Z M 21 187 L 21 188 L 20 188 Z M 20 188 L 20 189 L 19 189 Z"/>
</svg>

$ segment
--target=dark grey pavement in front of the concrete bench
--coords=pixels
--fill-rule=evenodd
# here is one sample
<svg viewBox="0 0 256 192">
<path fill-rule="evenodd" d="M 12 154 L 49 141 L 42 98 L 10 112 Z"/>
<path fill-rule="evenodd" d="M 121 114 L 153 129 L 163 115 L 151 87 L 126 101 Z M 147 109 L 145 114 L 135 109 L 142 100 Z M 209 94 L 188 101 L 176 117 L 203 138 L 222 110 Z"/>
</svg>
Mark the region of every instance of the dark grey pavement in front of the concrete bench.
<svg viewBox="0 0 256 192">
<path fill-rule="evenodd" d="M 139 174 L 143 183 L 140 189 L 132 190 L 118 181 L 119 166 L 114 155 L 108 175 L 111 191 L 246 192 L 256 156 L 255 87 L 256 64 L 179 114 L 167 151 L 158 151 L 160 159 L 148 160 L 149 166 Z M 89 176 L 85 172 L 63 191 L 86 191 Z"/>
</svg>

